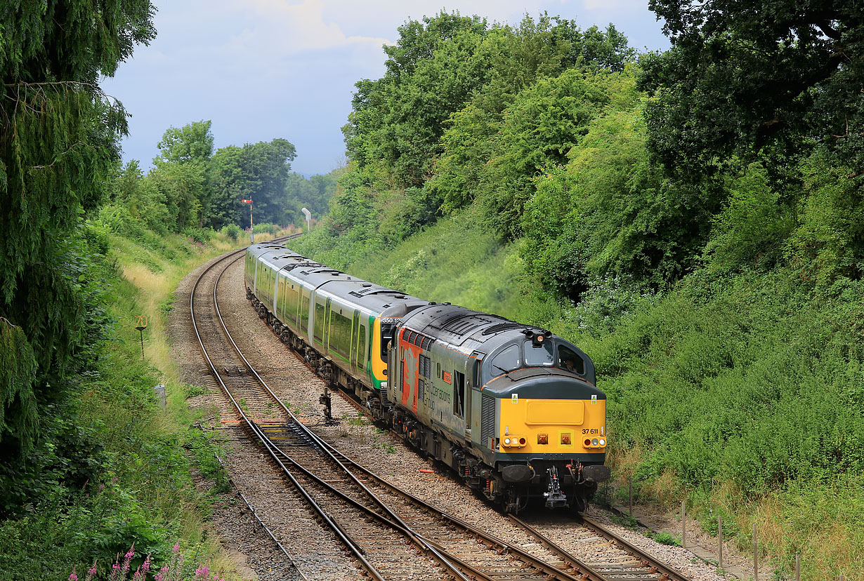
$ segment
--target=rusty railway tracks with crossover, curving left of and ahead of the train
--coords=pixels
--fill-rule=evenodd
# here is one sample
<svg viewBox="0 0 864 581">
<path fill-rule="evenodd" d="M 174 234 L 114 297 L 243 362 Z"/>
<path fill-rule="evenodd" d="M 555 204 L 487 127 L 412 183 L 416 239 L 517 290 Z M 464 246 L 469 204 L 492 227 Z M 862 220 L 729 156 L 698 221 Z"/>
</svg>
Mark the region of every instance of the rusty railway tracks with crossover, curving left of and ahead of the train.
<svg viewBox="0 0 864 581">
<path fill-rule="evenodd" d="M 283 540 L 301 578 L 308 566 L 338 564 L 347 577 L 529 581 L 688 581 L 623 539 L 588 520 L 545 525 L 511 517 L 529 545 L 501 540 L 388 483 L 312 432 L 285 407 L 241 353 L 219 312 L 219 281 L 242 257 L 223 256 L 196 279 L 189 309 L 213 378 L 234 409 L 246 437 L 280 471 L 302 539 Z M 217 268 L 221 266 L 222 268 Z M 197 306 L 197 308 L 196 308 Z M 312 373 L 311 369 L 309 371 Z M 583 525 L 583 527 L 580 527 Z M 556 543 L 566 527 L 600 535 L 613 554 L 583 563 Z M 581 530 L 574 530 L 574 527 Z M 303 555 L 314 550 L 307 562 Z"/>
</svg>

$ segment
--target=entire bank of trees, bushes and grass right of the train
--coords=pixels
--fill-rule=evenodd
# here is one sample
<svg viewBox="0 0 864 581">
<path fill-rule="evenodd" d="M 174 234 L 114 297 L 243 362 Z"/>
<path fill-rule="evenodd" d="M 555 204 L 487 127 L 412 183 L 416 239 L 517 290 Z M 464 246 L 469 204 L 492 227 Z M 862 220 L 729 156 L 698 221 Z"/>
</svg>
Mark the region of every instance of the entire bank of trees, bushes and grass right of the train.
<svg viewBox="0 0 864 581">
<path fill-rule="evenodd" d="M 610 497 L 632 477 L 742 547 L 755 522 L 778 578 L 796 553 L 861 577 L 864 24 L 750 5 L 652 2 L 664 54 L 546 15 L 406 22 L 294 248 L 573 340 L 609 396 Z"/>
</svg>

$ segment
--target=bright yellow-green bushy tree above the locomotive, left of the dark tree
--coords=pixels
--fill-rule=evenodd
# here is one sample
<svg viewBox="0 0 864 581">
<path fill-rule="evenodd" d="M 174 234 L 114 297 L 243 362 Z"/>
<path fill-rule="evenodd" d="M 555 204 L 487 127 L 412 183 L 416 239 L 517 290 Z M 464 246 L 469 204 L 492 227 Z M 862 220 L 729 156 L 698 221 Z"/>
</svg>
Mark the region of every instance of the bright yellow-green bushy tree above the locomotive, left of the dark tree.
<svg viewBox="0 0 864 581">
<path fill-rule="evenodd" d="M 694 268 L 717 204 L 710 189 L 664 177 L 645 150 L 641 104 L 588 125 L 565 167 L 536 180 L 524 259 L 543 287 L 579 300 L 617 277 L 662 288 Z"/>
</svg>

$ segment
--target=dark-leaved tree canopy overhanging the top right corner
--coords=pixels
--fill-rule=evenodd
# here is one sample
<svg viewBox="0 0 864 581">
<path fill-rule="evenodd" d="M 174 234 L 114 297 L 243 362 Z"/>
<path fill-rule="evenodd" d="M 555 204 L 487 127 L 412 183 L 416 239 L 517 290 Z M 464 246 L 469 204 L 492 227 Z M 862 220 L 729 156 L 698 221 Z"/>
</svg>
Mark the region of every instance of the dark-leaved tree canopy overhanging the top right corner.
<svg viewBox="0 0 864 581">
<path fill-rule="evenodd" d="M 806 145 L 864 161 L 864 10 L 843 0 L 651 0 L 672 42 L 643 61 L 649 146 L 679 174 Z M 810 140 L 810 138 L 813 138 Z"/>
</svg>

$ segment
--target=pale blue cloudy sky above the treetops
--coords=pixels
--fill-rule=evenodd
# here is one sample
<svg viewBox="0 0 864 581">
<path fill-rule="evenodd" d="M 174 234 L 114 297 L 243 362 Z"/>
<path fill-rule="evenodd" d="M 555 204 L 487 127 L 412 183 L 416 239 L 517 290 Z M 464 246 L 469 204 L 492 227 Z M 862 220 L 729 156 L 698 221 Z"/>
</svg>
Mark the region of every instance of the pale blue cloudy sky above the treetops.
<svg viewBox="0 0 864 581">
<path fill-rule="evenodd" d="M 354 83 L 384 74 L 397 27 L 442 9 L 518 24 L 525 14 L 613 22 L 639 50 L 665 49 L 647 0 L 155 0 L 156 40 L 103 88 L 130 112 L 124 161 L 150 167 L 168 127 L 213 122 L 217 148 L 283 137 L 292 167 L 326 174 L 344 160 L 340 128 Z"/>
</svg>

